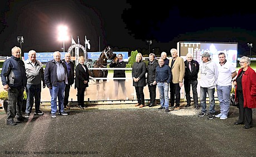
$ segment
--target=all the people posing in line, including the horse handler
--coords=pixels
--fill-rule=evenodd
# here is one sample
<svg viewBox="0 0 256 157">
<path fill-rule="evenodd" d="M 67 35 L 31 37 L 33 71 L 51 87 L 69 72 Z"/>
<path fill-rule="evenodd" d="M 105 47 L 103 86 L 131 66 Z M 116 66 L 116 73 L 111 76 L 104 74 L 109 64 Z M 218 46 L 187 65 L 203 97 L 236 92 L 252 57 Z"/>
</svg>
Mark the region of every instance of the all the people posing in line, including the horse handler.
<svg viewBox="0 0 256 157">
<path fill-rule="evenodd" d="M 160 108 L 169 113 L 169 107 L 174 110 L 180 109 L 180 89 L 185 89 L 186 105 L 190 107 L 190 88 L 192 87 L 194 108 L 199 109 L 198 104 L 198 73 L 200 71 L 200 105 L 199 117 L 208 116 L 221 120 L 228 118 L 230 106 L 230 92 L 232 82 L 235 85 L 235 101 L 238 102 L 239 119 L 234 124 L 244 124 L 244 128 L 252 127 L 252 108 L 256 108 L 256 73 L 249 66 L 250 58 L 243 56 L 240 59 L 241 68 L 236 72 L 235 67 L 225 59 L 225 53 L 219 53 L 219 63 L 211 60 L 209 52 L 201 54 L 202 63 L 193 59 L 192 54 L 186 55 L 186 60 L 178 56 L 177 49 L 170 50 L 171 59 L 167 58 L 166 52 L 161 53 L 161 58 L 156 60 L 155 54 L 149 54 L 149 63 L 143 62 L 142 54 L 137 53 L 136 62 L 132 65 L 132 85 L 135 87 L 137 104 L 136 107 L 145 107 L 144 87 L 147 85 L 150 93 L 149 107 L 155 106 L 156 87 L 160 94 Z M 122 54 L 118 54 L 117 62 L 112 62 L 112 68 L 125 68 Z M 58 113 L 68 115 L 64 111 L 68 107 L 68 95 L 70 87 L 75 83 L 77 88 L 77 102 L 81 109 L 87 106 L 84 103 L 84 95 L 89 82 L 89 70 L 86 67 L 85 58 L 78 58 L 78 65 L 71 62 L 70 53 L 65 54 L 61 60 L 61 53 L 53 53 L 53 59 L 47 62 L 45 70 L 42 63 L 36 59 L 36 51 L 28 52 L 28 59 L 21 60 L 21 48 L 13 47 L 12 56 L 3 63 L 1 79 L 4 90 L 8 92 L 7 124 L 17 123 L 29 118 L 34 100 L 35 114 L 43 115 L 40 110 L 41 87 L 49 88 L 51 94 L 51 117 L 56 118 L 57 99 Z M 74 70 L 75 69 L 75 70 Z M 76 72 L 76 77 L 75 77 Z M 147 73 L 147 75 L 146 75 Z M 119 85 L 126 97 L 125 70 L 114 70 L 115 96 L 117 98 Z M 43 85 L 42 85 L 42 84 Z M 215 115 L 215 87 L 220 103 L 220 113 Z M 169 90 L 170 89 L 170 90 Z M 26 114 L 22 117 L 23 92 L 27 93 Z M 170 92 L 170 99 L 169 93 Z M 209 97 L 209 110 L 206 109 L 206 94 Z M 170 102 L 169 102 L 170 101 Z M 16 118 L 16 120 L 14 120 Z"/>
</svg>

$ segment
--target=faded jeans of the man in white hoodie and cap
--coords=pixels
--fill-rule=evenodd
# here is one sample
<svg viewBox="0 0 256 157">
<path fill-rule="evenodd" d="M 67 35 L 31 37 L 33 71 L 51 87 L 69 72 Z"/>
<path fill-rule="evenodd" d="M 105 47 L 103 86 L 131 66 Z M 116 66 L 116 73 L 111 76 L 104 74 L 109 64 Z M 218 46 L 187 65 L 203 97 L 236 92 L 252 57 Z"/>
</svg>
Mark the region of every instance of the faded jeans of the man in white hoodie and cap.
<svg viewBox="0 0 256 157">
<path fill-rule="evenodd" d="M 210 103 L 209 113 L 213 113 L 213 114 L 215 113 L 214 92 L 215 92 L 215 88 L 210 89 L 210 88 L 200 87 L 200 104 L 201 104 L 203 113 L 207 112 L 207 110 L 206 110 L 206 93 L 208 94 L 209 103 Z"/>
</svg>

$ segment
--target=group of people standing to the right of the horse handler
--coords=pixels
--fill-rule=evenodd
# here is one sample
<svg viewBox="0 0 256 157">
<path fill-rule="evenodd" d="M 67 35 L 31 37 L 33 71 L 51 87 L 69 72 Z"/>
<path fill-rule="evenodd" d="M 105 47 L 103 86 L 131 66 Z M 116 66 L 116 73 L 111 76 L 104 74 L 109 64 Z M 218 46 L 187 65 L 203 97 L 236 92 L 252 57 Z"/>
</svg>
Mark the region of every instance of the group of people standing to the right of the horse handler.
<svg viewBox="0 0 256 157">
<path fill-rule="evenodd" d="M 136 62 L 132 65 L 133 86 L 136 90 L 136 107 L 145 107 L 143 89 L 148 85 L 150 94 L 149 107 L 155 105 L 156 86 L 159 89 L 160 105 L 158 110 L 164 109 L 169 113 L 169 107 L 180 109 L 180 89 L 184 83 L 186 105 L 190 107 L 190 88 L 193 92 L 194 108 L 200 109 L 198 104 L 198 73 L 200 71 L 200 106 L 199 117 L 207 116 L 208 119 L 228 118 L 230 107 L 230 92 L 232 82 L 235 85 L 235 100 L 239 104 L 239 119 L 234 124 L 244 124 L 244 128 L 252 127 L 252 108 L 256 108 L 256 73 L 250 68 L 250 58 L 243 56 L 240 59 L 238 73 L 235 67 L 227 61 L 225 53 L 219 53 L 219 63 L 210 58 L 209 52 L 201 54 L 202 63 L 193 59 L 192 54 L 186 55 L 186 60 L 178 56 L 177 49 L 170 50 L 171 59 L 166 52 L 161 53 L 161 58 L 156 60 L 155 54 L 149 54 L 149 63 L 142 62 L 142 54 L 136 55 Z M 146 75 L 147 73 L 147 75 Z M 215 88 L 217 90 L 220 113 L 215 115 Z M 169 90 L 170 89 L 170 90 Z M 170 91 L 170 99 L 168 92 Z M 206 108 L 206 95 L 209 97 L 209 110 Z M 169 102 L 170 100 L 170 102 Z"/>
</svg>

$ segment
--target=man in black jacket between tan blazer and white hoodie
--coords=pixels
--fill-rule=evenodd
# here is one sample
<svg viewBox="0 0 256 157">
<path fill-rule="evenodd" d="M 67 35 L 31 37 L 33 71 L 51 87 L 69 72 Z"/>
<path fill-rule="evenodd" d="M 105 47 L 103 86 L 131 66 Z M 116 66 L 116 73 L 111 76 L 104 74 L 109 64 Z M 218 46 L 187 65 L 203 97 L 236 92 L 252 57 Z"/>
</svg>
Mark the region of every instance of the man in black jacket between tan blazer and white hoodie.
<svg viewBox="0 0 256 157">
<path fill-rule="evenodd" d="M 198 72 L 199 72 L 199 63 L 192 58 L 190 53 L 186 54 L 185 60 L 185 76 L 184 76 L 184 88 L 186 93 L 186 105 L 185 107 L 190 107 L 190 85 L 192 85 L 194 107 L 199 109 L 198 106 Z"/>
</svg>

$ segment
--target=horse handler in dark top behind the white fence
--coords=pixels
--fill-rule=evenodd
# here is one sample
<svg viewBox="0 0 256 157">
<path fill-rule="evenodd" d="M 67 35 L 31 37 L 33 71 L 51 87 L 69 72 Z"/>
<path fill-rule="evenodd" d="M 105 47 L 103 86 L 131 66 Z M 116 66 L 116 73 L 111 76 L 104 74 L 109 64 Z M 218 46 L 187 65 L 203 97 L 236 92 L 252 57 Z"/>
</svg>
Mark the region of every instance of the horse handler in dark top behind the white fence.
<svg viewBox="0 0 256 157">
<path fill-rule="evenodd" d="M 122 54 L 117 55 L 117 61 L 111 62 L 109 67 L 110 68 L 125 68 L 126 63 L 122 60 Z M 125 78 L 125 70 L 114 70 L 114 78 Z M 122 88 L 122 93 L 124 94 L 123 97 L 126 98 L 126 88 L 125 88 L 125 79 L 114 79 L 115 85 L 115 99 L 117 99 L 118 89 L 119 86 Z"/>
</svg>

